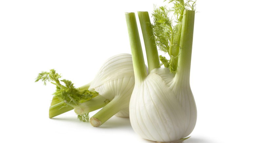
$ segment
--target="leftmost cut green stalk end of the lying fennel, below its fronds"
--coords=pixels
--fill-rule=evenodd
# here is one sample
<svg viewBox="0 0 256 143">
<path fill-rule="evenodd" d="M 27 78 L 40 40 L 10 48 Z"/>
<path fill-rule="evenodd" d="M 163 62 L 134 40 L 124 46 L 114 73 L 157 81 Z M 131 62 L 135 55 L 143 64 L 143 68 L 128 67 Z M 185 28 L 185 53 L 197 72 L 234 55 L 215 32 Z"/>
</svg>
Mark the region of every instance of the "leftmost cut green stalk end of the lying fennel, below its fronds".
<svg viewBox="0 0 256 143">
<path fill-rule="evenodd" d="M 61 102 L 57 97 L 53 96 L 53 100 L 49 109 L 49 118 L 53 118 L 73 109 L 73 107 L 67 105 L 64 102 Z"/>
</svg>

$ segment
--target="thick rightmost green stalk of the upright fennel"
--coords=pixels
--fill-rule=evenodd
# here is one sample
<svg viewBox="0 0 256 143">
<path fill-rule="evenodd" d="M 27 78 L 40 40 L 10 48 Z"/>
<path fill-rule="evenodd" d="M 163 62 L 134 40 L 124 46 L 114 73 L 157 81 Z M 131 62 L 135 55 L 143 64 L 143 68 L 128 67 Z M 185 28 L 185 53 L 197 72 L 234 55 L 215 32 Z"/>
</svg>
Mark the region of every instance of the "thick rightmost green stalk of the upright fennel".
<svg viewBox="0 0 256 143">
<path fill-rule="evenodd" d="M 178 58 L 178 70 L 175 75 L 178 79 L 184 83 L 189 83 L 191 54 L 193 44 L 193 32 L 194 32 L 195 11 L 185 10 L 182 20 L 181 31 L 181 49 Z"/>
</svg>

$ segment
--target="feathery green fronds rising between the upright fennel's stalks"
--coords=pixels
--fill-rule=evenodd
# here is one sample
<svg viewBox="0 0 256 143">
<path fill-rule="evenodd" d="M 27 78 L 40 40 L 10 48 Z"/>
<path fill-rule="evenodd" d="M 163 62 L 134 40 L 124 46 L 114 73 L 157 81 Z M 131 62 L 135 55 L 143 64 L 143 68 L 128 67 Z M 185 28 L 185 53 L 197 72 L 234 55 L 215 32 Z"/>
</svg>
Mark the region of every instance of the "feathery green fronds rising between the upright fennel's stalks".
<svg viewBox="0 0 256 143">
<path fill-rule="evenodd" d="M 170 59 L 160 56 L 161 65 L 168 67 L 172 73 L 175 73 L 180 49 L 183 12 L 187 9 L 195 10 L 195 1 L 169 0 L 168 3 L 172 3 L 173 7 L 162 6 L 154 8 L 152 14 L 154 23 L 152 27 L 157 47 L 170 56 Z M 173 21 L 172 17 L 169 17 L 171 13 L 174 14 L 175 21 Z"/>
</svg>

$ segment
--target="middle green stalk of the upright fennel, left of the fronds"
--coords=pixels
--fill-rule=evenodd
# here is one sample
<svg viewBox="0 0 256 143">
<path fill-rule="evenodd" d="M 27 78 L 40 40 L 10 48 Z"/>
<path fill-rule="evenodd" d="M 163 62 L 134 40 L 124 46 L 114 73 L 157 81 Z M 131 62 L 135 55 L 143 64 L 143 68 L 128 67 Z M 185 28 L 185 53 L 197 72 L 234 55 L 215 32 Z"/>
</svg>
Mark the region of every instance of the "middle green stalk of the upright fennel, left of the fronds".
<svg viewBox="0 0 256 143">
<path fill-rule="evenodd" d="M 157 45 L 147 11 L 138 11 L 139 23 L 146 49 L 148 71 L 160 68 Z"/>
</svg>

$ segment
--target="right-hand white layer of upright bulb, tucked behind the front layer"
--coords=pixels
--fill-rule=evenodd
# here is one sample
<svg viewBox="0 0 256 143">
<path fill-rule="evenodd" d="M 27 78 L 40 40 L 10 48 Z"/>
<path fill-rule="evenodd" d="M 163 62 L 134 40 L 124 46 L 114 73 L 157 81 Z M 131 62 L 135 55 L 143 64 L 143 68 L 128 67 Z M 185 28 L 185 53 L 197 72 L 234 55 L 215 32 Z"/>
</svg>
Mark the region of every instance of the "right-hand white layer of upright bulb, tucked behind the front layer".
<svg viewBox="0 0 256 143">
<path fill-rule="evenodd" d="M 164 83 L 172 90 L 186 115 L 186 128 L 183 137 L 188 136 L 194 129 L 197 120 L 197 108 L 189 82 L 189 69 L 184 72 L 170 73 L 168 68 L 157 68 L 151 71 L 160 75 Z"/>
</svg>

